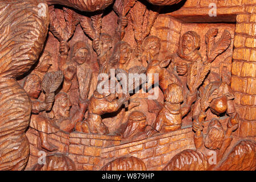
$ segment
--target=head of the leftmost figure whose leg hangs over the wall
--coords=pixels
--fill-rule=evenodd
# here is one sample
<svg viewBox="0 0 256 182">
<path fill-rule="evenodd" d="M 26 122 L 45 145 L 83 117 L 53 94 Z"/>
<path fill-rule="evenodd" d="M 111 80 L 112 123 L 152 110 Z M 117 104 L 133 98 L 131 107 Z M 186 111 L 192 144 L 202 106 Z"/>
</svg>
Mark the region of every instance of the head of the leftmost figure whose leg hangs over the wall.
<svg viewBox="0 0 256 182">
<path fill-rule="evenodd" d="M 24 80 L 23 89 L 27 92 L 28 96 L 31 97 L 34 91 L 38 91 L 35 90 L 38 88 L 35 85 L 41 85 L 41 82 L 42 80 L 38 75 L 30 74 Z"/>
</svg>

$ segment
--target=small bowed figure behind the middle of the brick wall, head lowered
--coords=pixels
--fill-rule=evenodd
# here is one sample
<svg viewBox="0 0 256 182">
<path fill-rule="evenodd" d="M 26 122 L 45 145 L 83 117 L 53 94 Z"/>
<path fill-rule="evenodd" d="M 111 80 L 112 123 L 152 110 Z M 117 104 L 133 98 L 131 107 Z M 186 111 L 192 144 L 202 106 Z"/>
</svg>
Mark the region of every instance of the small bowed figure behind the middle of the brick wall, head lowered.
<svg viewBox="0 0 256 182">
<path fill-rule="evenodd" d="M 128 123 L 123 133 L 122 142 L 146 138 L 148 129 L 152 129 L 152 127 L 147 126 L 146 115 L 141 111 L 133 111 L 128 117 Z"/>
</svg>

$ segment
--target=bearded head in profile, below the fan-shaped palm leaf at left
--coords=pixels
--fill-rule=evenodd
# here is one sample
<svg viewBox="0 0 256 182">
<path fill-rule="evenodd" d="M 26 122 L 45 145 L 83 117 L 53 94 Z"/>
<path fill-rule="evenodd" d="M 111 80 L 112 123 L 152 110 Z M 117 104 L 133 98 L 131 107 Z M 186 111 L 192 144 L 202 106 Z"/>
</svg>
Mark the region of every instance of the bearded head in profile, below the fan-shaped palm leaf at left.
<svg viewBox="0 0 256 182">
<path fill-rule="evenodd" d="M 55 96 L 55 102 L 52 110 L 55 113 L 55 117 L 69 118 L 69 111 L 71 109 L 71 102 L 69 101 L 68 94 L 60 92 Z"/>
</svg>

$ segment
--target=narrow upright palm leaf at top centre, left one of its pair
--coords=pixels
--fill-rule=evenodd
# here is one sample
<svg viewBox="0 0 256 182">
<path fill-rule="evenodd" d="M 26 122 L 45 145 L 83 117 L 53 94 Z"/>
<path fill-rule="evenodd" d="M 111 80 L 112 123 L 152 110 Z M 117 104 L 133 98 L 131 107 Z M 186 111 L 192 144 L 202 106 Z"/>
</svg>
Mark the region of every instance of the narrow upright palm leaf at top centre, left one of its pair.
<svg viewBox="0 0 256 182">
<path fill-rule="evenodd" d="M 142 34 L 143 34 L 143 16 L 146 13 L 146 6 L 144 6 L 141 2 L 137 2 L 134 7 L 130 10 L 131 22 L 133 23 L 133 30 L 135 40 L 138 44 L 142 42 Z"/>
</svg>

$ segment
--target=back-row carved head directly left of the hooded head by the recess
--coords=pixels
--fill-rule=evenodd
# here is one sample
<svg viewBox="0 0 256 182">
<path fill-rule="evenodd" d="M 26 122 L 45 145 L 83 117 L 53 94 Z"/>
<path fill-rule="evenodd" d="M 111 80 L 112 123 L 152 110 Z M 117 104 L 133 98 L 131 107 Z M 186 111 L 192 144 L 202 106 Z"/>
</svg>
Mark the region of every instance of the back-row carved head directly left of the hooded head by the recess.
<svg viewBox="0 0 256 182">
<path fill-rule="evenodd" d="M 150 60 L 159 54 L 161 40 L 157 36 L 148 36 L 142 42 L 142 49 L 150 56 Z"/>
</svg>

